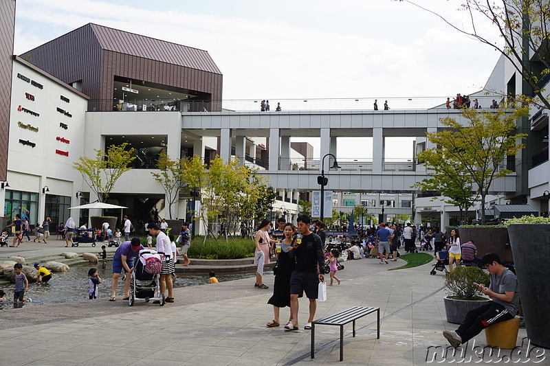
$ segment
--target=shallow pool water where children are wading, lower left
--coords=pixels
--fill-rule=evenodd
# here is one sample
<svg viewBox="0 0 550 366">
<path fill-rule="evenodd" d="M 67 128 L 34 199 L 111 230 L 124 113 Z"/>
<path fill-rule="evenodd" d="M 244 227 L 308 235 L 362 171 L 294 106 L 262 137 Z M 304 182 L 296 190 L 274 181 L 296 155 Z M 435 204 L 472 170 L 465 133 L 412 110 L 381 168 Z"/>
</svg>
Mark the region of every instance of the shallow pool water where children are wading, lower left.
<svg viewBox="0 0 550 366">
<path fill-rule="evenodd" d="M 107 264 L 107 268 L 92 266 L 90 264 L 75 264 L 71 266 L 71 270 L 66 273 L 53 273 L 50 284 L 41 285 L 36 283 L 29 284 L 29 291 L 25 293 L 25 298 L 31 298 L 33 302 L 38 303 L 59 303 L 67 301 L 77 301 L 88 299 L 88 270 L 90 268 L 98 268 L 101 284 L 98 288 L 98 298 L 108 298 L 111 296 L 111 278 L 113 277 L 113 268 Z M 231 275 L 217 275 L 219 282 L 232 281 L 234 279 L 243 279 L 254 277 L 254 273 L 240 273 Z M 208 275 L 181 275 L 178 274 L 174 288 L 187 286 L 198 286 L 208 284 Z M 14 307 L 12 303 L 14 288 L 13 284 L 5 286 L 2 290 L 5 291 L 7 301 L 0 301 L 0 310 L 2 308 Z M 122 299 L 124 295 L 124 282 L 118 280 L 117 289 L 118 298 Z M 22 304 L 18 304 L 22 306 Z"/>
</svg>

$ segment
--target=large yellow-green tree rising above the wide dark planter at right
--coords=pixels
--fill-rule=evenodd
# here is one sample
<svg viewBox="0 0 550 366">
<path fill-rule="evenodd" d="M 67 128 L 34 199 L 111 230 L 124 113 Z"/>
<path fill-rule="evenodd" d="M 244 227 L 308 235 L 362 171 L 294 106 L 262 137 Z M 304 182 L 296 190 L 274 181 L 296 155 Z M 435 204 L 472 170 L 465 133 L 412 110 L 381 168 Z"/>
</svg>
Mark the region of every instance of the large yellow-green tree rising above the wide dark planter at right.
<svg viewBox="0 0 550 366">
<path fill-rule="evenodd" d="M 516 119 L 528 113 L 528 107 L 515 109 L 512 113 L 466 108 L 462 112 L 467 121 L 465 126 L 454 118 L 445 117 L 441 124 L 448 129 L 426 134 L 436 146 L 423 153 L 427 167 L 430 170 L 439 168 L 441 161 L 446 161 L 450 167 L 456 168 L 455 175 L 463 174 L 468 177 L 467 181 L 476 185 L 481 196 L 482 225 L 485 224 L 485 196 L 489 194 L 494 179 L 511 173 L 511 170 L 501 167 L 503 161 L 525 147 L 516 141 L 526 135 L 511 133 L 516 129 Z"/>
</svg>

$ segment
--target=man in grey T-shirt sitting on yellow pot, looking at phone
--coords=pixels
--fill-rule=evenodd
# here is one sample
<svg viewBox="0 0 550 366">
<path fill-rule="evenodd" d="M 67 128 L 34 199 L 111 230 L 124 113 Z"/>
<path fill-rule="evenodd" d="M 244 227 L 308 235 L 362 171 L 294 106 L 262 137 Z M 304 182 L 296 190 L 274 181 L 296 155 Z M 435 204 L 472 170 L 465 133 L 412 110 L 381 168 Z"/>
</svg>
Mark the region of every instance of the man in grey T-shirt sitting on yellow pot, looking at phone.
<svg viewBox="0 0 550 366">
<path fill-rule="evenodd" d="M 488 288 L 484 284 L 479 284 L 479 290 L 492 301 L 470 310 L 456 331 L 443 331 L 443 336 L 454 348 L 470 341 L 489 325 L 514 319 L 518 313 L 520 294 L 516 275 L 503 266 L 496 253 L 483 255 L 481 262 L 489 270 L 491 284 Z"/>
</svg>

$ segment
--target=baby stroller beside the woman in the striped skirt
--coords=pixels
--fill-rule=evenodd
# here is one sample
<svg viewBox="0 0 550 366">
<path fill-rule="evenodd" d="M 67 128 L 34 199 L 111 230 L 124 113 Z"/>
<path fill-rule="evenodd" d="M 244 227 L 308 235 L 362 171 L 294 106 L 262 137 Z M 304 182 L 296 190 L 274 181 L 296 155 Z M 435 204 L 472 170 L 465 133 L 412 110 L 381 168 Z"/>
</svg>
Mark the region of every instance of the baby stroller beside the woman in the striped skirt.
<svg viewBox="0 0 550 366">
<path fill-rule="evenodd" d="M 161 255 L 162 254 L 162 255 Z M 129 305 L 133 306 L 136 299 L 149 302 L 150 300 L 159 301 L 160 306 L 166 303 L 164 294 L 160 293 L 160 264 L 164 253 L 157 253 L 152 250 L 141 250 L 135 257 L 134 270 L 130 282 Z M 157 268 L 149 268 L 148 263 L 156 263 Z M 146 271 L 157 273 L 149 273 Z"/>
</svg>

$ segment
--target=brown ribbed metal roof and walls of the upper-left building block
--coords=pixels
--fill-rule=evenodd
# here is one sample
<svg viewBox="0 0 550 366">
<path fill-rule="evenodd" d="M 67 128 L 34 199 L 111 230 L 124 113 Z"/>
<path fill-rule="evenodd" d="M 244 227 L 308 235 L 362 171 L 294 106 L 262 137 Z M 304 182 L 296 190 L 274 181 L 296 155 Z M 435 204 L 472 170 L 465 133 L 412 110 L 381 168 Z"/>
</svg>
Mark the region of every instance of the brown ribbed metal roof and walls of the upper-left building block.
<svg viewBox="0 0 550 366">
<path fill-rule="evenodd" d="M 221 100 L 223 76 L 208 52 L 101 25 L 89 23 L 21 57 L 67 84 L 82 80 L 92 102 L 104 101 L 102 111 L 111 110 L 115 76 Z"/>
</svg>

